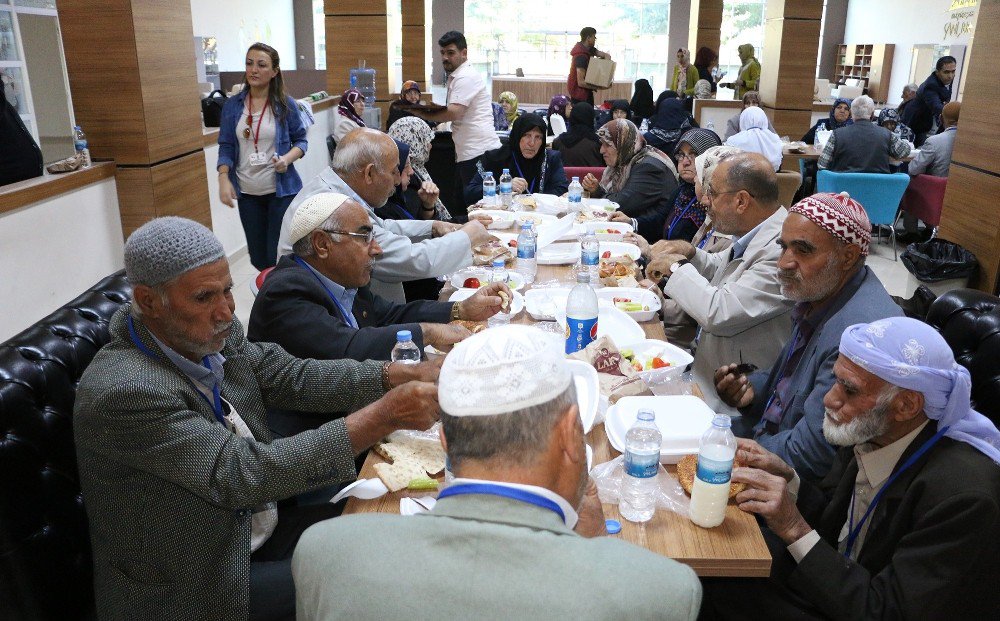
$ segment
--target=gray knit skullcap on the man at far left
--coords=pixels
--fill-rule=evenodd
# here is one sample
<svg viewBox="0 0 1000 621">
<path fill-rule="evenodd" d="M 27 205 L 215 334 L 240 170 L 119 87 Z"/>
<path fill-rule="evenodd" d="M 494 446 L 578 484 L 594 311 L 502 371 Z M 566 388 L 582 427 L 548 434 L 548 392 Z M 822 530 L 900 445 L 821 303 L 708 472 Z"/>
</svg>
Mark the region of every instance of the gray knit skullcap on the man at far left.
<svg viewBox="0 0 1000 621">
<path fill-rule="evenodd" d="M 133 285 L 156 286 L 225 256 L 222 243 L 203 224 L 156 218 L 128 236 L 125 275 Z"/>
</svg>

